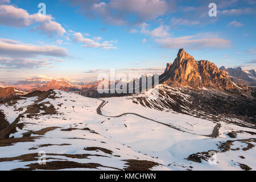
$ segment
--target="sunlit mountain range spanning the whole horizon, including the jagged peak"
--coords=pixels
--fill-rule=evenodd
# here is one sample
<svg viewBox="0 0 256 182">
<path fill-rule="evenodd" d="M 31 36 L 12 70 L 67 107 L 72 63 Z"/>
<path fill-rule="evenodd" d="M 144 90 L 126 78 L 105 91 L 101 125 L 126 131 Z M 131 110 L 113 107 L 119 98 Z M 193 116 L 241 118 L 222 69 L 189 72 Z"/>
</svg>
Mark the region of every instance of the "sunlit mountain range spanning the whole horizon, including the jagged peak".
<svg viewBox="0 0 256 182">
<path fill-rule="evenodd" d="M 146 79 L 149 78 L 147 75 L 142 75 L 142 77 L 146 77 Z M 134 78 L 131 82 L 139 81 L 141 83 L 142 77 Z M 152 80 L 154 80 L 153 78 L 154 76 Z M 109 82 L 110 85 L 110 81 L 105 81 Z M 15 82 L 11 85 L 8 82 L 1 82 L 0 84 L 2 85 L 0 85 L 0 87 L 8 86 L 19 90 L 19 93 L 32 92 L 34 90 L 47 91 L 49 89 L 66 92 L 81 91 L 80 94 L 84 96 L 98 97 L 97 87 L 100 82 L 101 81 L 80 82 L 70 78 L 53 78 L 40 75 L 26 78 L 25 80 Z M 115 85 L 119 82 L 123 81 L 115 81 Z M 154 81 L 152 82 L 154 84 Z M 167 63 L 164 73 L 159 76 L 159 84 L 178 87 L 189 86 L 195 89 L 211 88 L 221 90 L 222 92 L 251 96 L 251 90 L 247 88 L 247 86 L 256 85 L 256 73 L 255 69 L 245 71 L 240 67 L 221 67 L 218 69 L 214 63 L 207 60 L 196 61 L 193 56 L 185 52 L 184 49 L 180 49 L 174 62 Z"/>
</svg>

